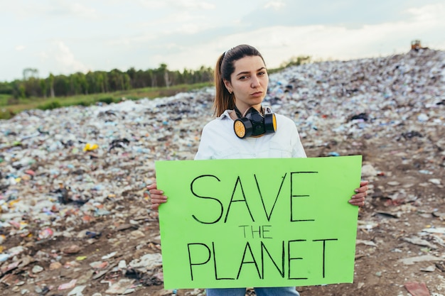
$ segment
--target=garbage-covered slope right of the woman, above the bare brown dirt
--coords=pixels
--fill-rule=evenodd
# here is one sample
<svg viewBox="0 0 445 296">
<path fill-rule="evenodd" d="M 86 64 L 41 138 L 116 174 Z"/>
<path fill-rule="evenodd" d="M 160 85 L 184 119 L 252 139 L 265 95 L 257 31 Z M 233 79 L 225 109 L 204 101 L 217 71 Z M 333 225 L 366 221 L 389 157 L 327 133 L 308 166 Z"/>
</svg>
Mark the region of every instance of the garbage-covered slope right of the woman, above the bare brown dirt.
<svg viewBox="0 0 445 296">
<path fill-rule="evenodd" d="M 427 136 L 444 125 L 444 57 L 421 50 L 289 67 L 271 77 L 269 102 L 294 119 L 306 147 L 326 138 Z"/>
</svg>

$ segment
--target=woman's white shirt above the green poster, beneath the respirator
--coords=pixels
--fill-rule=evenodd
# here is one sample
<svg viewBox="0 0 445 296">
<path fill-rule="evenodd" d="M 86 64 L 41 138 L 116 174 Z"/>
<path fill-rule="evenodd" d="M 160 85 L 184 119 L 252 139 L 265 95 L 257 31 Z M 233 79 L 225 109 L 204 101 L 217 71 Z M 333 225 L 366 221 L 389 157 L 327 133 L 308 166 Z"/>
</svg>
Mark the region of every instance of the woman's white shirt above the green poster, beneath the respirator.
<svg viewBox="0 0 445 296">
<path fill-rule="evenodd" d="M 277 131 L 254 138 L 238 138 L 230 117 L 233 110 L 225 110 L 203 128 L 195 160 L 239 158 L 305 158 L 300 136 L 294 121 L 275 114 Z"/>
</svg>

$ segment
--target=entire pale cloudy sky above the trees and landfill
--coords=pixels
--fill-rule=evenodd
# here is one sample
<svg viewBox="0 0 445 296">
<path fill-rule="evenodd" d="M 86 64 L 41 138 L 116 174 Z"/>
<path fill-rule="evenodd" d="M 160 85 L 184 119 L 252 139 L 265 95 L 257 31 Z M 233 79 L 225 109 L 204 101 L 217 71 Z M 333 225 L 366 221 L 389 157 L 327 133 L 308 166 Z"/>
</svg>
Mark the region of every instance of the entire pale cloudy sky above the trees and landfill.
<svg viewBox="0 0 445 296">
<path fill-rule="evenodd" d="M 239 44 L 269 68 L 445 50 L 445 0 L 0 0 L 0 82 L 119 69 L 214 67 Z"/>
</svg>

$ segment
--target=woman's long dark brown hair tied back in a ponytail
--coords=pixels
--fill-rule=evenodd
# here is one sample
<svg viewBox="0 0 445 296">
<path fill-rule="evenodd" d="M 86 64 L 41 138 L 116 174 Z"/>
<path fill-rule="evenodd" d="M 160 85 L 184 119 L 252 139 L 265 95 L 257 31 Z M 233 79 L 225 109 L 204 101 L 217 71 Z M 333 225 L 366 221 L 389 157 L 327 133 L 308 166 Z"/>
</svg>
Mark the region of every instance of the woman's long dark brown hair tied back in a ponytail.
<svg viewBox="0 0 445 296">
<path fill-rule="evenodd" d="M 237 45 L 235 48 L 227 50 L 218 58 L 215 67 L 215 87 L 216 95 L 213 102 L 213 109 L 216 116 L 221 116 L 226 109 L 235 109 L 235 95 L 230 94 L 225 88 L 224 80 L 230 81 L 230 75 L 235 71 L 235 62 L 242 57 L 261 57 L 259 51 L 250 45 Z"/>
</svg>

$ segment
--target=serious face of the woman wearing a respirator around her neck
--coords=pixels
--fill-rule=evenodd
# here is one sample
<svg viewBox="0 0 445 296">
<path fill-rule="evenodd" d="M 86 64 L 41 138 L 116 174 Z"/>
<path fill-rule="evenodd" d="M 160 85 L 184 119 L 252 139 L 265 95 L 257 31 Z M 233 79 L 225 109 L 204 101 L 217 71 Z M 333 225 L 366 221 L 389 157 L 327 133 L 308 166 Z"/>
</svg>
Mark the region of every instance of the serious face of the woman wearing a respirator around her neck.
<svg viewBox="0 0 445 296">
<path fill-rule="evenodd" d="M 235 94 L 235 105 L 241 114 L 252 106 L 259 111 L 269 84 L 266 65 L 261 57 L 254 55 L 242 57 L 234 66 L 230 81 L 224 80 L 225 87 Z"/>
</svg>

